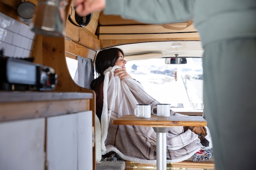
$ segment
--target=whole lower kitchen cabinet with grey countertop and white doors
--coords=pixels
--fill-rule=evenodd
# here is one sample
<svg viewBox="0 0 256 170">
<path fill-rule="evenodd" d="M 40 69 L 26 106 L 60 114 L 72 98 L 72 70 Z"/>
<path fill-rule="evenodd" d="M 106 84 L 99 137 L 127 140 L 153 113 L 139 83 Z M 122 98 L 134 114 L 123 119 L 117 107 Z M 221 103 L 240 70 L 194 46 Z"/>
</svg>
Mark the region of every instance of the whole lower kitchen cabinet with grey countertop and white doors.
<svg viewBox="0 0 256 170">
<path fill-rule="evenodd" d="M 0 92 L 0 170 L 94 170 L 91 93 Z"/>
</svg>

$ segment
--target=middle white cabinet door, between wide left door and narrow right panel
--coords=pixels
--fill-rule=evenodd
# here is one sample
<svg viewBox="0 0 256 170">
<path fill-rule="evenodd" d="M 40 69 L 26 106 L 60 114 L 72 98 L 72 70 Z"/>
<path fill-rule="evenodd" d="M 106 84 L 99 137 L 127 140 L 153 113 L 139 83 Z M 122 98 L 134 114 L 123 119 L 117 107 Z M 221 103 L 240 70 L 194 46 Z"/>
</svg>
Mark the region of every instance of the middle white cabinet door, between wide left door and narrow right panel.
<svg viewBox="0 0 256 170">
<path fill-rule="evenodd" d="M 48 170 L 77 170 L 77 114 L 47 118 Z"/>
</svg>

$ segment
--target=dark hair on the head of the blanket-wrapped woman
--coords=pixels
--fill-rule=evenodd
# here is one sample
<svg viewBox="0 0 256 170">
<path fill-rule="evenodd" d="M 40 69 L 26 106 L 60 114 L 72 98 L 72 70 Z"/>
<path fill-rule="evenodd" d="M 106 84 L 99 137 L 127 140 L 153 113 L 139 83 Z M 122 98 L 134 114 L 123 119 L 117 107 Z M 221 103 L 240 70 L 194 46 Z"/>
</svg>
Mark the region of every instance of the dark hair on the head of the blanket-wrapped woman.
<svg viewBox="0 0 256 170">
<path fill-rule="evenodd" d="M 110 66 L 115 66 L 119 58 L 119 52 L 124 56 L 124 52 L 119 48 L 109 48 L 101 50 L 95 59 L 95 70 L 99 76 L 103 75 L 103 72 Z"/>
</svg>

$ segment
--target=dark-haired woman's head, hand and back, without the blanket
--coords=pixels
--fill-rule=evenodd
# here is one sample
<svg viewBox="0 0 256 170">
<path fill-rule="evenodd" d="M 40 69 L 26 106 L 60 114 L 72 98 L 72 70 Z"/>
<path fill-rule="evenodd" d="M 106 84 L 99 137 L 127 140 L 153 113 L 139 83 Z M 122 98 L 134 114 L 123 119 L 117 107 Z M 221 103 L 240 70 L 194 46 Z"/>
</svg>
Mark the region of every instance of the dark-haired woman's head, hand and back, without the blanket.
<svg viewBox="0 0 256 170">
<path fill-rule="evenodd" d="M 124 60 L 124 52 L 118 48 L 104 49 L 96 56 L 95 69 L 99 74 L 99 77 L 92 81 L 91 88 L 96 93 L 96 115 L 99 117 L 99 121 L 101 121 L 101 113 L 103 108 L 103 72 L 110 66 L 117 65 L 121 68 L 117 68 L 115 70 L 114 76 L 119 75 L 121 80 L 124 78 L 132 78 L 126 72 L 125 64 L 126 60 Z"/>
</svg>

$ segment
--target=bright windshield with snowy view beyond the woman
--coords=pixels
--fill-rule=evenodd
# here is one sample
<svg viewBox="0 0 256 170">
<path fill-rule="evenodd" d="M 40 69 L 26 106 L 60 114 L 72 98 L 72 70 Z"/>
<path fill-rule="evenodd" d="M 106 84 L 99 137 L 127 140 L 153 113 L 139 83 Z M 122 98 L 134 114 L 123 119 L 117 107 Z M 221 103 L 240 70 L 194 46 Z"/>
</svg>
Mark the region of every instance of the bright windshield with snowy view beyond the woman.
<svg viewBox="0 0 256 170">
<path fill-rule="evenodd" d="M 186 59 L 187 64 L 165 64 L 164 58 L 128 61 L 126 71 L 146 93 L 159 103 L 171 104 L 175 112 L 202 111 L 202 58 Z"/>
</svg>

